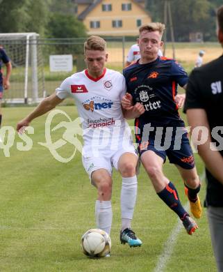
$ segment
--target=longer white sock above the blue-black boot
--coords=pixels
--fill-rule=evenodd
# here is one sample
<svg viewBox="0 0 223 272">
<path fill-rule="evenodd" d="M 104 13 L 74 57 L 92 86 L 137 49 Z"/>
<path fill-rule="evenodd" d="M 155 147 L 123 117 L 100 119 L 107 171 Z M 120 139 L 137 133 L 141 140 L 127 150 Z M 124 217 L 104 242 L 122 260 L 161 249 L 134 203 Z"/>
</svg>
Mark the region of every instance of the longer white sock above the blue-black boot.
<svg viewBox="0 0 223 272">
<path fill-rule="evenodd" d="M 122 231 L 131 228 L 131 220 L 133 219 L 133 212 L 137 196 L 137 177 L 131 176 L 129 178 L 122 177 L 122 191 L 121 191 L 121 211 L 122 211 Z"/>
</svg>

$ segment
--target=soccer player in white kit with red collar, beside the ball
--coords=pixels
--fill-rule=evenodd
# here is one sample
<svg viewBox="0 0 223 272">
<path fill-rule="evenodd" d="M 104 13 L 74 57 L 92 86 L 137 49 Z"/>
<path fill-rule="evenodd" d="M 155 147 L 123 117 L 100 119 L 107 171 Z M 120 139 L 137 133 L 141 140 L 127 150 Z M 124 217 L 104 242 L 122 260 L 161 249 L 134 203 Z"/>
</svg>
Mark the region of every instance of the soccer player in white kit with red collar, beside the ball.
<svg viewBox="0 0 223 272">
<path fill-rule="evenodd" d="M 87 69 L 67 77 L 56 93 L 42 100 L 31 114 L 17 123 L 17 131 L 49 112 L 65 98 L 74 98 L 79 116 L 83 119 L 83 166 L 98 192 L 95 204 L 97 228 L 110 234 L 113 218 L 112 169 L 115 167 L 122 175 L 120 241 L 140 246 L 142 241 L 131 229 L 138 186 L 135 174 L 138 156 L 122 114 L 125 80 L 121 73 L 105 68 L 108 54 L 103 38 L 90 36 L 84 43 L 84 55 Z"/>
</svg>

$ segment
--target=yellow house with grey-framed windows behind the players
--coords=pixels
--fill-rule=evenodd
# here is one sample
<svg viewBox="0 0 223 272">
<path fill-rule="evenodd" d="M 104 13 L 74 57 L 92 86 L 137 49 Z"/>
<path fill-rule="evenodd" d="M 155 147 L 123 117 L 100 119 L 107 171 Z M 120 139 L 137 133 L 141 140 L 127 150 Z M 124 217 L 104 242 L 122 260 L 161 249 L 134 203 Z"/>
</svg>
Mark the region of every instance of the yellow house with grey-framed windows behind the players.
<svg viewBox="0 0 223 272">
<path fill-rule="evenodd" d="M 76 0 L 76 14 L 88 35 L 137 36 L 142 24 L 151 22 L 144 0 Z"/>
</svg>

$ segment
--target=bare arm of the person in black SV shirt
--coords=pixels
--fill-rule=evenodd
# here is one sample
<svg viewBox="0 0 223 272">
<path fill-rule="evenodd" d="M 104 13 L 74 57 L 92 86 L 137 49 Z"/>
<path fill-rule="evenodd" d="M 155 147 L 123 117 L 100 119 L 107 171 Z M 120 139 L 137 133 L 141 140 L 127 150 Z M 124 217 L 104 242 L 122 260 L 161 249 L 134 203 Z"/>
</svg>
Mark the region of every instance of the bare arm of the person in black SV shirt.
<svg viewBox="0 0 223 272">
<path fill-rule="evenodd" d="M 206 167 L 210 173 L 213 174 L 213 176 L 215 176 L 215 178 L 223 184 L 223 158 L 219 151 L 213 151 L 210 149 L 210 127 L 208 125 L 208 119 L 205 110 L 188 109 L 187 116 L 188 123 L 192 127 L 192 130 L 198 126 L 205 126 L 208 128 L 208 139 L 204 144 L 199 144 L 198 139 L 192 139 L 192 142 L 196 144 L 199 155 L 201 156 L 202 160 L 204 160 L 204 163 L 206 164 Z"/>
</svg>

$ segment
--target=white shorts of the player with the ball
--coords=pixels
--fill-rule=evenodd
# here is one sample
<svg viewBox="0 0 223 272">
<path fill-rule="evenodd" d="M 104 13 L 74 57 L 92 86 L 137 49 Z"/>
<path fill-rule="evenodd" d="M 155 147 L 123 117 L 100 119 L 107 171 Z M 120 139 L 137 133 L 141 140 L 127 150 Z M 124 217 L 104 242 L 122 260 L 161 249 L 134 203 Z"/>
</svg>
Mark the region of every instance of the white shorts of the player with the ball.
<svg viewBox="0 0 223 272">
<path fill-rule="evenodd" d="M 113 167 L 117 169 L 119 158 L 124 153 L 133 153 L 135 154 L 135 156 L 138 157 L 138 153 L 137 151 L 135 151 L 135 147 L 133 145 L 129 145 L 128 148 L 125 147 L 124 149 L 118 149 L 114 151 L 110 149 L 101 149 L 99 151 L 99 156 L 95 156 L 95 154 L 92 152 L 91 147 L 89 147 L 89 153 L 87 146 L 84 147 L 84 150 L 85 151 L 82 155 L 82 163 L 85 171 L 89 175 L 90 180 L 92 172 L 101 168 L 106 169 L 111 175 L 113 172 Z"/>
</svg>

